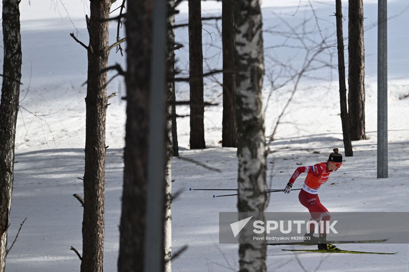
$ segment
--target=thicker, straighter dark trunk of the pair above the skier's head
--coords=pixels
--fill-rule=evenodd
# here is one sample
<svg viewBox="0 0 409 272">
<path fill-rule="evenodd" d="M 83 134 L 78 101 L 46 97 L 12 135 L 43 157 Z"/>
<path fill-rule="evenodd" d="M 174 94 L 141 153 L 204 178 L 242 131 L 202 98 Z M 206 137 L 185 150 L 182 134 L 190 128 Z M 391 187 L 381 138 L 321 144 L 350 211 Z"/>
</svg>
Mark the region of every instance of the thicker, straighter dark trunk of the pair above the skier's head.
<svg viewBox="0 0 409 272">
<path fill-rule="evenodd" d="M 348 6 L 348 113 L 353 141 L 365 137 L 365 60 L 363 0 Z"/>
</svg>

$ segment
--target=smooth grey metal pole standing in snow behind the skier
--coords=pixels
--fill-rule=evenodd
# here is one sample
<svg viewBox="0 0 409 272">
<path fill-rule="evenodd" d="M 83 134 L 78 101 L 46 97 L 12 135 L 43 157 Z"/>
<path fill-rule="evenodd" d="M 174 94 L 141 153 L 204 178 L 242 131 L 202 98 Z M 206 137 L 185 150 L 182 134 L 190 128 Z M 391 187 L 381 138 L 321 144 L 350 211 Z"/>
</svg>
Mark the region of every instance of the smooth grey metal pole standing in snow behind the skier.
<svg viewBox="0 0 409 272">
<path fill-rule="evenodd" d="M 378 175 L 388 177 L 387 0 L 378 0 Z"/>
</svg>

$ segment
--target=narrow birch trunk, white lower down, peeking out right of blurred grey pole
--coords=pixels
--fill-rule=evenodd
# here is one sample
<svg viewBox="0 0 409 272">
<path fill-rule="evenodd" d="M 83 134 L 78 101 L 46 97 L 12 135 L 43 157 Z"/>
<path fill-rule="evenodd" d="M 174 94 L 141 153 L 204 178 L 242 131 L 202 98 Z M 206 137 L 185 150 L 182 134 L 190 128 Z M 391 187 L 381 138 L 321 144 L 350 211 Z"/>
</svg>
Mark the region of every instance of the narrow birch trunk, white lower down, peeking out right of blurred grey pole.
<svg viewBox="0 0 409 272">
<path fill-rule="evenodd" d="M 175 0 L 168 0 L 168 42 L 166 44 L 166 66 L 167 66 L 167 111 L 166 111 L 166 168 L 165 168 L 165 221 L 164 221 L 164 253 L 165 264 L 164 271 L 171 272 L 171 257 L 172 257 L 172 155 L 173 155 L 173 118 L 170 118 L 173 113 L 175 104 L 175 14 L 173 12 L 175 7 Z M 176 128 L 176 127 L 175 127 Z"/>
</svg>

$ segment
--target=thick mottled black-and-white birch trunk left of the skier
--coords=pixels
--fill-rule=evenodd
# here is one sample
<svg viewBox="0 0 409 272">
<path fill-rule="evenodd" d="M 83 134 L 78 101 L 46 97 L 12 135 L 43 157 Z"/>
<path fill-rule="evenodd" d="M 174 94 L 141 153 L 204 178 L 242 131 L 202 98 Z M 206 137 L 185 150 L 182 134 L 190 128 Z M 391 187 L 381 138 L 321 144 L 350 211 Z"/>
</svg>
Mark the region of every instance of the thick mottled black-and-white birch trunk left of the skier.
<svg viewBox="0 0 409 272">
<path fill-rule="evenodd" d="M 266 207 L 265 136 L 262 111 L 263 37 L 260 0 L 238 0 L 234 6 L 236 44 L 236 117 L 238 211 L 264 212 Z M 245 219 L 240 213 L 239 220 Z M 240 232 L 242 235 L 243 232 Z M 266 271 L 266 245 L 239 246 L 240 272 Z"/>
</svg>

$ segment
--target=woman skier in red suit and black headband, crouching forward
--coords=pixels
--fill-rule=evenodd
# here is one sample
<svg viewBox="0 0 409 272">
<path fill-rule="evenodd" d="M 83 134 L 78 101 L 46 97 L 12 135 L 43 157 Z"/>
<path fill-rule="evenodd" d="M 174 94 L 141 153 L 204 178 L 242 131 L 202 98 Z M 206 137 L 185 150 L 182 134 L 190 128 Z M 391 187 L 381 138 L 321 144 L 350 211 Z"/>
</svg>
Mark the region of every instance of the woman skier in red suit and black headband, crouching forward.
<svg viewBox="0 0 409 272">
<path fill-rule="evenodd" d="M 306 241 L 310 243 L 318 243 L 318 249 L 320 250 L 338 249 L 335 247 L 335 245 L 327 243 L 326 222 L 330 220 L 331 215 L 321 204 L 318 197 L 319 187 L 328 180 L 331 172 L 337 171 L 342 165 L 342 155 L 338 153 L 338 148 L 334 148 L 333 150 L 334 153 L 330 154 L 328 161 L 321 162 L 313 166 L 300 166 L 297 168 L 283 190 L 285 194 L 290 193 L 295 179 L 297 179 L 301 173 L 307 174 L 303 187 L 298 195 L 298 199 L 300 203 L 310 211 L 310 220 L 317 222 L 321 220 L 324 223 L 324 233 L 320 233 L 318 239 L 312 236 L 314 234 L 315 227 L 313 224 L 310 224 L 310 233 L 307 232 L 305 235 L 305 237 L 310 237 L 310 239 Z"/>
</svg>

